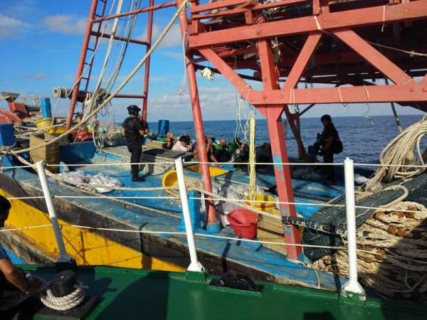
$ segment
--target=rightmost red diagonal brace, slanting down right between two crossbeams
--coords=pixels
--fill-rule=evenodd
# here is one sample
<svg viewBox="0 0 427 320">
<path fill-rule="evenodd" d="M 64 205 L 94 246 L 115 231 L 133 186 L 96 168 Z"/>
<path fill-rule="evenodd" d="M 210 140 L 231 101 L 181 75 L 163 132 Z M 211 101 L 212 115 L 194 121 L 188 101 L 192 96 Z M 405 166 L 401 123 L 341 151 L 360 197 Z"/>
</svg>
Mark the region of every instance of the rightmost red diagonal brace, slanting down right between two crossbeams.
<svg viewBox="0 0 427 320">
<path fill-rule="evenodd" d="M 357 33 L 352 30 L 334 31 L 334 35 L 341 41 L 352 48 L 362 58 L 366 59 L 371 65 L 377 68 L 381 73 L 386 75 L 396 84 L 410 82 L 412 80 L 409 75 L 404 73 L 397 65 L 386 58 L 379 50 L 376 50 L 367 41 L 364 41 Z"/>
</svg>

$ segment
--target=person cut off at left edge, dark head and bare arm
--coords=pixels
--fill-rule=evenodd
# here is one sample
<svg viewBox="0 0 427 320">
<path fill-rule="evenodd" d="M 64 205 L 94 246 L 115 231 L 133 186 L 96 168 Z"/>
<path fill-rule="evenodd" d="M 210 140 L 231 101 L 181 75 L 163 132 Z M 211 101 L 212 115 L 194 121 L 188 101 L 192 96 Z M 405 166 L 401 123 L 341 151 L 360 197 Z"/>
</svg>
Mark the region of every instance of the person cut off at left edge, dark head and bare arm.
<svg viewBox="0 0 427 320">
<path fill-rule="evenodd" d="M 4 228 L 4 222 L 9 218 L 10 209 L 11 203 L 9 200 L 4 196 L 0 196 L 0 228 Z M 14 287 L 21 289 L 23 292 L 35 292 L 39 285 L 36 279 L 27 278 L 23 270 L 14 266 L 0 243 L 0 293 L 4 289 L 14 289 Z"/>
</svg>

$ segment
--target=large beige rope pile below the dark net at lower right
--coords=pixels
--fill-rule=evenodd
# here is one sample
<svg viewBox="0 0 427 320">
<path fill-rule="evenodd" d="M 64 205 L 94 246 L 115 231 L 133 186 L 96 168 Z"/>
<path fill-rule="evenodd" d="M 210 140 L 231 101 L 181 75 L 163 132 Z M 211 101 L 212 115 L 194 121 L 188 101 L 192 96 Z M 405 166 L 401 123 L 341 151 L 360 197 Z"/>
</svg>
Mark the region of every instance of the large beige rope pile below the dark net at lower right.
<svg viewBox="0 0 427 320">
<path fill-rule="evenodd" d="M 427 209 L 419 203 L 400 202 L 393 211 L 376 210 L 359 229 L 359 276 L 367 286 L 386 297 L 421 299 L 427 302 L 427 241 L 421 228 L 426 213 L 400 210 Z M 347 252 L 338 250 L 317 260 L 313 267 L 348 277 Z"/>
</svg>

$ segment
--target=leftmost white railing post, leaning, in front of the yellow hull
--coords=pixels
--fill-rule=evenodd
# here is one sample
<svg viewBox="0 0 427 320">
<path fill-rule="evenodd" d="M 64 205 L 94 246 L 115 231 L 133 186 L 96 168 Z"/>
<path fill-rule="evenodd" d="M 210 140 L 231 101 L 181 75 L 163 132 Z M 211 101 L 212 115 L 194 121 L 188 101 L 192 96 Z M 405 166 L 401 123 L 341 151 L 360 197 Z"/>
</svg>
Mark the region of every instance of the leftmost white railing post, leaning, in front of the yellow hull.
<svg viewBox="0 0 427 320">
<path fill-rule="evenodd" d="M 51 218 L 53 233 L 55 234 L 56 244 L 58 245 L 59 250 L 59 260 L 58 262 L 68 262 L 71 260 L 71 257 L 67 254 L 65 250 L 65 245 L 60 233 L 58 218 L 56 217 L 55 207 L 53 207 L 51 191 L 49 190 L 48 180 L 46 179 L 45 166 L 43 161 L 38 161 L 36 163 L 38 178 L 40 178 L 41 189 L 43 190 L 43 195 L 46 200 L 46 207 L 48 208 L 49 218 Z"/>
</svg>

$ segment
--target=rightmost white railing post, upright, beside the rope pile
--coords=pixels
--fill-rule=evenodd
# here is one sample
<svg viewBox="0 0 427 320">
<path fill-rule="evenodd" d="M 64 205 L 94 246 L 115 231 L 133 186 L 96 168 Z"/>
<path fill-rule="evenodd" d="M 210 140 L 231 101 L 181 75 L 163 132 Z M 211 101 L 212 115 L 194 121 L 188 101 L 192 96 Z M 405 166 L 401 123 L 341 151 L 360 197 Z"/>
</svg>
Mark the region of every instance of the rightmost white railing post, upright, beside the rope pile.
<svg viewBox="0 0 427 320">
<path fill-rule="evenodd" d="M 349 255 L 349 281 L 342 286 L 342 294 L 357 294 L 364 299 L 365 293 L 357 281 L 357 242 L 356 209 L 354 204 L 354 165 L 353 160 L 344 160 L 345 207 L 347 213 L 347 250 Z"/>
</svg>

